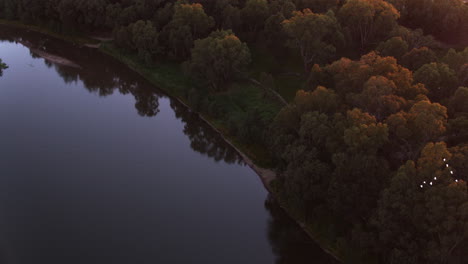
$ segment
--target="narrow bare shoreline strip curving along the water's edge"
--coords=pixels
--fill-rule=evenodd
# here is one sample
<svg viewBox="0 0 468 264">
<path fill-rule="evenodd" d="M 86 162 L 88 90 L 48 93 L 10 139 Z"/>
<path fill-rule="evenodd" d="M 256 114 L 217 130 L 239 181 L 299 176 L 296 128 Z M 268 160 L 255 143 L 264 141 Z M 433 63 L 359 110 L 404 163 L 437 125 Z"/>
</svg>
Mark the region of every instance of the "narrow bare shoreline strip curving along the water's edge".
<svg viewBox="0 0 468 264">
<path fill-rule="evenodd" d="M 47 29 L 43 29 L 43 28 L 40 28 L 40 27 L 37 27 L 37 26 L 30 26 L 30 25 L 26 25 L 26 24 L 22 24 L 22 23 L 18 23 L 18 22 L 8 23 L 7 21 L 0 20 L 0 25 L 11 26 L 11 27 L 19 27 L 19 28 L 23 28 L 25 30 L 32 30 L 32 31 L 35 31 L 35 32 L 38 32 L 38 33 L 41 33 L 41 34 L 49 35 L 49 36 L 54 37 L 54 38 L 59 38 L 61 40 L 67 41 L 67 42 L 71 42 L 71 43 L 74 43 L 74 44 L 79 42 L 80 45 L 86 46 L 88 48 L 98 49 L 99 52 L 101 52 L 103 54 L 106 54 L 107 56 L 110 56 L 110 57 L 116 59 L 117 61 L 119 61 L 120 63 L 125 65 L 127 68 L 129 68 L 130 70 L 132 70 L 132 71 L 136 72 L 137 74 L 139 74 L 142 78 L 144 78 L 149 83 L 151 83 L 153 86 L 155 86 L 155 88 L 157 88 L 157 89 L 161 90 L 162 92 L 164 92 L 166 94 L 166 96 L 168 96 L 169 98 L 178 101 L 179 103 L 184 105 L 187 109 L 192 110 L 192 107 L 190 107 L 182 98 L 180 98 L 177 95 L 174 95 L 167 88 L 164 88 L 164 86 L 165 86 L 164 84 L 155 83 L 155 81 L 153 81 L 151 78 L 148 78 L 143 72 L 136 69 L 135 67 L 132 67 L 132 65 L 130 65 L 129 63 L 126 63 L 126 61 L 123 60 L 120 56 L 117 56 L 116 54 L 113 54 L 112 52 L 110 52 L 108 50 L 104 50 L 102 48 L 103 45 L 101 45 L 102 42 L 101 43 L 86 43 L 86 42 L 83 43 L 83 39 L 86 39 L 86 38 L 77 38 L 77 39 L 74 40 L 73 38 L 62 36 L 60 34 L 51 32 L 51 31 L 49 31 Z M 79 41 L 77 41 L 77 40 L 79 40 Z M 265 168 L 262 168 L 262 167 L 256 165 L 255 162 L 251 158 L 249 158 L 247 154 L 245 154 L 240 148 L 236 147 L 235 144 L 232 142 L 232 140 L 229 139 L 224 133 L 222 133 L 221 130 L 218 127 L 216 127 L 212 122 L 210 122 L 207 117 L 205 117 L 202 113 L 200 113 L 198 111 L 194 111 L 194 112 L 200 117 L 201 120 L 203 120 L 208 126 L 210 126 L 214 131 L 216 131 L 221 136 L 221 138 L 227 144 L 229 144 L 242 157 L 244 162 L 253 171 L 255 171 L 255 173 L 258 175 L 258 177 L 262 181 L 262 184 L 265 187 L 265 189 L 273 196 L 273 198 L 275 200 L 278 201 L 279 206 L 286 212 L 286 214 L 294 222 L 296 222 L 301 227 L 301 229 L 317 244 L 317 246 L 319 246 L 324 252 L 326 252 L 328 255 L 330 255 L 331 257 L 336 259 L 338 262 L 344 263 L 343 260 L 341 259 L 341 257 L 338 256 L 338 254 L 336 252 L 333 252 L 334 251 L 333 249 L 331 249 L 330 247 L 324 247 L 323 243 L 320 243 L 320 241 L 316 238 L 316 236 L 313 234 L 313 232 L 310 231 L 307 228 L 306 224 L 303 221 L 300 221 L 297 218 L 293 217 L 293 215 L 290 213 L 290 210 L 288 210 L 288 208 L 286 206 L 284 206 L 283 203 L 280 202 L 280 200 L 278 199 L 277 193 L 275 193 L 274 190 L 271 187 L 271 183 L 277 177 L 276 172 L 274 170 L 265 169 Z"/>
</svg>

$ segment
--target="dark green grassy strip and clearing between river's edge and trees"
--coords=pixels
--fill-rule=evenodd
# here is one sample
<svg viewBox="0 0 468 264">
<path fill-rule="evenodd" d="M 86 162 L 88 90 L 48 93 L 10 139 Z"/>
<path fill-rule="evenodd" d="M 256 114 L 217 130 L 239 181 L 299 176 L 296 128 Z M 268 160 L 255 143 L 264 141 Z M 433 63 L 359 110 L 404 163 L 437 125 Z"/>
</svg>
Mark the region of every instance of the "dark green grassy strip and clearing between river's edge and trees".
<svg viewBox="0 0 468 264">
<path fill-rule="evenodd" d="M 124 63 L 168 95 L 197 110 L 191 104 L 188 94 L 193 88 L 204 89 L 205 87 L 185 76 L 179 64 L 160 62 L 147 65 L 135 54 L 126 53 L 110 42 L 103 43 L 100 50 Z M 280 104 L 269 99 L 260 88 L 248 82 L 234 83 L 226 91 L 209 93 L 203 97 L 206 97 L 205 111 L 202 110 L 201 114 L 210 124 L 257 165 L 262 167 L 272 167 L 274 165 L 265 146 L 255 142 L 243 143 L 234 135 L 232 127 L 241 127 L 243 120 L 253 109 L 257 109 L 261 118 L 269 123 L 281 109 Z M 213 110 L 210 111 L 210 108 Z"/>
</svg>

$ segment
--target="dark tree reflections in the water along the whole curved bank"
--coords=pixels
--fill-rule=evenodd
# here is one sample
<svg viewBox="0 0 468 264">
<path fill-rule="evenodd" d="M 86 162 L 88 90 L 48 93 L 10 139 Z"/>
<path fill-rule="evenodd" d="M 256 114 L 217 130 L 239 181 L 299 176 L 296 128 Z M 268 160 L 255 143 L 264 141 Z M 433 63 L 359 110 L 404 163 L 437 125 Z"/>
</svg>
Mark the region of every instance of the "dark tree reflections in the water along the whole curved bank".
<svg viewBox="0 0 468 264">
<path fill-rule="evenodd" d="M 138 74 L 95 50 L 73 47 L 60 40 L 49 41 L 44 35 L 34 32 L 25 34 L 24 31 L 8 27 L 0 30 L 0 39 L 10 42 L 26 40 L 37 48 L 80 65 L 80 68 L 74 68 L 45 60 L 47 67 L 53 67 L 66 83 L 81 81 L 89 92 L 101 97 L 112 95 L 116 91 L 131 94 L 136 101 L 135 108 L 141 116 L 154 117 L 159 112 L 159 98 L 163 97 L 161 92 Z M 33 52 L 31 55 L 38 57 Z M 213 158 L 216 162 L 245 165 L 240 155 L 204 123 L 198 114 L 176 100 L 170 100 L 170 105 L 176 117 L 184 123 L 184 133 L 190 139 L 194 151 Z M 311 260 L 314 261 L 312 263 L 336 263 L 311 241 L 270 196 L 265 201 L 265 208 L 271 215 L 268 238 L 277 264 L 311 263 Z"/>
</svg>

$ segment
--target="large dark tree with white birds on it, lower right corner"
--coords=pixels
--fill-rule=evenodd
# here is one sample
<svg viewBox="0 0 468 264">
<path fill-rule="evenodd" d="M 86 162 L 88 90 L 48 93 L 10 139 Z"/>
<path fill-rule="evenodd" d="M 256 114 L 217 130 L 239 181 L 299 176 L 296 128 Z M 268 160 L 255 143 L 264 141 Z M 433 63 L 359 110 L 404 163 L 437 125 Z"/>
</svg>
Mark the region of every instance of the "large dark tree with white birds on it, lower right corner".
<svg viewBox="0 0 468 264">
<path fill-rule="evenodd" d="M 427 144 L 383 192 L 374 222 L 383 263 L 457 263 L 453 253 L 468 239 L 468 192 L 445 166 L 451 156 L 445 143 Z"/>
</svg>

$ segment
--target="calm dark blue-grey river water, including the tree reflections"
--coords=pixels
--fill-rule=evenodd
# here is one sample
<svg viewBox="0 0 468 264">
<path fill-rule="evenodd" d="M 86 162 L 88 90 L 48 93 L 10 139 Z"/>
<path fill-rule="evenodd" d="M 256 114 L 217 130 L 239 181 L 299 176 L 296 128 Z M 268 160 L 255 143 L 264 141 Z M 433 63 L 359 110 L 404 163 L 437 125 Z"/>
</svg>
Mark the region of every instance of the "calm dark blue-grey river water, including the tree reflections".
<svg viewBox="0 0 468 264">
<path fill-rule="evenodd" d="M 218 135 L 126 67 L 5 27 L 0 58 L 0 263 L 333 262 Z"/>
</svg>

